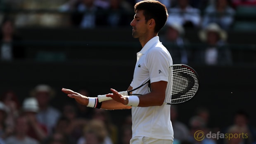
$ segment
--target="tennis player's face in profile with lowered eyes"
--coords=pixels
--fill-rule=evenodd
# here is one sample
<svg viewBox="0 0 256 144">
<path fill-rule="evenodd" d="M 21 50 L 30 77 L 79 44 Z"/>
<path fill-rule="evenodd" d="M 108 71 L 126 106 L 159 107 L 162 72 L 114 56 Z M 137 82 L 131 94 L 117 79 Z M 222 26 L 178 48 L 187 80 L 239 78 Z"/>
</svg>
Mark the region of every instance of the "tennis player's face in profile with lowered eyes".
<svg viewBox="0 0 256 144">
<path fill-rule="evenodd" d="M 146 35 L 148 30 L 145 16 L 143 15 L 143 10 L 137 10 L 134 19 L 130 23 L 130 25 L 133 27 L 134 38 L 139 38 Z"/>
</svg>

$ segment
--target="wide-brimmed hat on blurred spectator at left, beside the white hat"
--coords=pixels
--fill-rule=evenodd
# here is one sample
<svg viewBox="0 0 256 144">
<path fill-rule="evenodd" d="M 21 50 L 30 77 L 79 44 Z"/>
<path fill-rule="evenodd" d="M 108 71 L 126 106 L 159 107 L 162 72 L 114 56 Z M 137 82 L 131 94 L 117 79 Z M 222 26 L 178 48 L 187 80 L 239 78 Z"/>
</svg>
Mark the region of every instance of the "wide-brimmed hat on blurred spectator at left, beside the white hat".
<svg viewBox="0 0 256 144">
<path fill-rule="evenodd" d="M 38 92 L 47 92 L 49 93 L 50 97 L 52 98 L 55 95 L 55 91 L 46 84 L 39 84 L 37 85 L 32 91 L 31 96 L 36 96 L 36 93 Z"/>
</svg>

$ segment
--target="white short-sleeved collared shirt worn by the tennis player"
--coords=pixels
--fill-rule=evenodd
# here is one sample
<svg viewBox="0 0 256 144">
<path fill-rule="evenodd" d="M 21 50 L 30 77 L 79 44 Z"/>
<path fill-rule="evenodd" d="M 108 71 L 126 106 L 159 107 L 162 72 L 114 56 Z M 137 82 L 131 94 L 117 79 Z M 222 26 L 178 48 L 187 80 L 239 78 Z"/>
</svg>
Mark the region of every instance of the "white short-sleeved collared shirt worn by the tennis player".
<svg viewBox="0 0 256 144">
<path fill-rule="evenodd" d="M 168 81 L 168 67 L 173 64 L 168 50 L 153 37 L 137 53 L 137 63 L 130 86 L 136 88 L 145 83 Z M 148 85 L 142 86 L 133 93 L 147 94 Z M 153 107 L 132 107 L 133 137 L 151 137 L 155 139 L 172 139 L 173 127 L 170 120 L 170 105 Z"/>
</svg>

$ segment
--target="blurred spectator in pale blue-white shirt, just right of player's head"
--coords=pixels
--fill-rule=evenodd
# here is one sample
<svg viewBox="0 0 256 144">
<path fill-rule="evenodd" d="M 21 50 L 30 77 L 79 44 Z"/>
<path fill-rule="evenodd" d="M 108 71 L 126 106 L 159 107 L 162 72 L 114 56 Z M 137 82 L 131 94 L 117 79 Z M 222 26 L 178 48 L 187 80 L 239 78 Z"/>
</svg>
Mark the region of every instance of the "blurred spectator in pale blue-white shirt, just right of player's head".
<svg viewBox="0 0 256 144">
<path fill-rule="evenodd" d="M 200 10 L 189 5 L 189 0 L 178 0 L 178 5 L 168 9 L 168 21 L 177 22 L 184 28 L 198 28 L 201 22 Z"/>
</svg>

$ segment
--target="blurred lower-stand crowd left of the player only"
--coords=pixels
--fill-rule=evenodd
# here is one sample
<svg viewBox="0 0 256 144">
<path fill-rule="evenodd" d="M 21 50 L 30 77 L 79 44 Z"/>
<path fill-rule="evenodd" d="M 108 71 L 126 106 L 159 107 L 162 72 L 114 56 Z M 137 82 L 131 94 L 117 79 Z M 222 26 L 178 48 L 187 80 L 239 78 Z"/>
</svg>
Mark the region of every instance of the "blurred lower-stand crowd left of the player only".
<svg viewBox="0 0 256 144">
<path fill-rule="evenodd" d="M 79 93 L 88 95 L 86 90 Z M 39 84 L 29 96 L 6 91 L 0 101 L 0 144 L 128 144 L 131 118 L 119 127 L 109 111 L 92 109 L 70 100 L 61 108 L 50 104 L 56 96 L 49 85 Z M 60 100 L 62 101 L 62 100 Z M 119 138 L 121 137 L 121 138 Z"/>
</svg>

